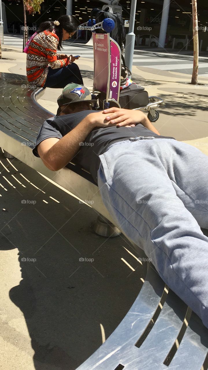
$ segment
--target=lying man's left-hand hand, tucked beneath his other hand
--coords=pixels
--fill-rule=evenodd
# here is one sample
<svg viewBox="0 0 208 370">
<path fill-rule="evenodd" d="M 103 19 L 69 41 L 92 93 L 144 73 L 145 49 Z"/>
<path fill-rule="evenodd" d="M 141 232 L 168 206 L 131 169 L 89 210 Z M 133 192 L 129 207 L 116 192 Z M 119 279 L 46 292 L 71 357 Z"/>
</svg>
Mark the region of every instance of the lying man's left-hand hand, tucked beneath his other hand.
<svg viewBox="0 0 208 370">
<path fill-rule="evenodd" d="M 119 108 L 111 108 L 111 109 L 119 109 Z M 109 111 L 109 109 L 107 111 Z M 92 113 L 88 115 L 88 118 L 90 119 L 91 125 L 93 125 L 93 127 L 112 127 L 112 126 L 117 125 L 116 122 L 112 122 L 112 121 L 110 122 L 109 119 L 107 120 L 109 113 L 104 113 L 104 112 L 105 111 L 98 111 L 97 113 Z M 134 127 L 135 124 L 133 122 L 131 124 L 128 124 L 127 122 L 125 121 L 122 122 L 122 120 L 120 120 L 120 124 L 118 127 L 121 127 L 121 126 Z"/>
</svg>

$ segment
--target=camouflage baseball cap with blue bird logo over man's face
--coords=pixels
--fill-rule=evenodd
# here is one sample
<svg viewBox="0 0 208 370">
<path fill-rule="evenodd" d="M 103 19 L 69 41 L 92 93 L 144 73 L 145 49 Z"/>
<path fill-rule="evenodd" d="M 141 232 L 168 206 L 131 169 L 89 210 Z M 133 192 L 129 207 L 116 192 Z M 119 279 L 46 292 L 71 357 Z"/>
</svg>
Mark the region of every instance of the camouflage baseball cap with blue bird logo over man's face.
<svg viewBox="0 0 208 370">
<path fill-rule="evenodd" d="M 58 97 L 57 103 L 60 107 L 64 104 L 76 103 L 79 101 L 97 102 L 97 97 L 91 95 L 90 91 L 83 85 L 68 84 L 63 88 L 62 94 Z"/>
</svg>

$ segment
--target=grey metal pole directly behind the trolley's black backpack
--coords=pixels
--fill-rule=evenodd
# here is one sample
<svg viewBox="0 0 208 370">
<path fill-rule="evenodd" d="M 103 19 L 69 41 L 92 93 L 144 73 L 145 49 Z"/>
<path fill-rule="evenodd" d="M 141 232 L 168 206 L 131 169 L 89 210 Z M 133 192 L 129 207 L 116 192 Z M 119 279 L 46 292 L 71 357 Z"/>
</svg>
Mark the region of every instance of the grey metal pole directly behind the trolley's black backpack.
<svg viewBox="0 0 208 370">
<path fill-rule="evenodd" d="M 126 37 L 126 46 L 125 46 L 125 64 L 132 70 L 133 57 L 134 57 L 134 22 L 135 22 L 135 13 L 136 13 L 137 0 L 131 0 L 131 13 L 130 13 L 130 23 L 129 23 L 129 33 Z M 131 77 L 131 75 L 129 75 Z"/>
</svg>

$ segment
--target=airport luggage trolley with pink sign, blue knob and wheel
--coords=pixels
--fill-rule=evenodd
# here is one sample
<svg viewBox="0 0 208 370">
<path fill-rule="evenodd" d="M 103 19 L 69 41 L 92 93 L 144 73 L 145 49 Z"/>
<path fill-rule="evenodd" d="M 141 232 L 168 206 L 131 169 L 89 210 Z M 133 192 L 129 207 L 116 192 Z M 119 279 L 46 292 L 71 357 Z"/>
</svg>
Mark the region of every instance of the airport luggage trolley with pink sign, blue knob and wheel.
<svg viewBox="0 0 208 370">
<path fill-rule="evenodd" d="M 91 19 L 87 23 L 78 26 L 78 30 L 89 30 L 93 37 L 93 51 L 94 51 L 94 81 L 93 94 L 99 98 L 100 94 L 105 96 L 102 99 L 103 107 L 117 106 L 124 108 L 120 98 L 120 83 L 121 83 L 121 48 L 113 38 L 110 37 L 110 32 L 115 27 L 112 19 L 106 18 L 100 23 L 93 24 Z M 97 32 L 98 30 L 98 32 Z M 99 30 L 105 33 L 99 33 Z M 125 92 L 125 89 L 122 90 Z M 138 88 L 139 91 L 144 91 L 143 87 Z M 147 93 L 147 92 L 146 92 Z M 147 94 L 148 95 L 148 94 Z M 111 104 L 110 104 L 111 103 Z M 148 111 L 148 118 L 151 122 L 155 122 L 159 118 L 159 112 L 156 110 L 163 104 L 161 98 L 150 96 L 148 97 L 148 104 L 133 108 L 133 110 Z"/>
</svg>

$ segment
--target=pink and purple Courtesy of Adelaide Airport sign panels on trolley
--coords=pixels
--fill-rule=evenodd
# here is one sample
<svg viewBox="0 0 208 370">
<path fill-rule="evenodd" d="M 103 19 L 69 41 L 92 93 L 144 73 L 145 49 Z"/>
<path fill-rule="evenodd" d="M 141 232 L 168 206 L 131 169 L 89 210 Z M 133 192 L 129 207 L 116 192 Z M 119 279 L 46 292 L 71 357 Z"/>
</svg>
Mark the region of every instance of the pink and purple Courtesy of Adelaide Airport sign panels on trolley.
<svg viewBox="0 0 208 370">
<path fill-rule="evenodd" d="M 93 33 L 94 90 L 106 93 L 106 101 L 118 101 L 120 93 L 121 51 L 109 34 Z"/>
</svg>

